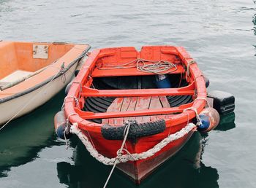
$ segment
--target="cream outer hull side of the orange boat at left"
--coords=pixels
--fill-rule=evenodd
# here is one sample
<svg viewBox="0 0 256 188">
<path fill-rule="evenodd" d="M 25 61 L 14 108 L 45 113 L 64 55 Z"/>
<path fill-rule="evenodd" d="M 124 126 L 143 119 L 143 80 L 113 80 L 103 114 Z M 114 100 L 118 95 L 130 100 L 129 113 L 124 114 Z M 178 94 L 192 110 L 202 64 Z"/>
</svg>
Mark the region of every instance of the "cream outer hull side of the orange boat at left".
<svg viewBox="0 0 256 188">
<path fill-rule="evenodd" d="M 17 98 L 13 98 L 10 101 L 0 103 L 0 125 L 12 119 L 12 117 L 18 118 L 24 114 L 28 114 L 30 111 L 37 109 L 37 107 L 46 103 L 50 98 L 59 93 L 61 89 L 67 85 L 72 79 L 73 72 L 78 63 L 75 63 L 65 73 L 66 79 L 63 77 L 56 77 L 50 83 L 46 83 L 39 87 L 37 90 L 33 90 L 25 95 L 20 95 Z"/>
</svg>

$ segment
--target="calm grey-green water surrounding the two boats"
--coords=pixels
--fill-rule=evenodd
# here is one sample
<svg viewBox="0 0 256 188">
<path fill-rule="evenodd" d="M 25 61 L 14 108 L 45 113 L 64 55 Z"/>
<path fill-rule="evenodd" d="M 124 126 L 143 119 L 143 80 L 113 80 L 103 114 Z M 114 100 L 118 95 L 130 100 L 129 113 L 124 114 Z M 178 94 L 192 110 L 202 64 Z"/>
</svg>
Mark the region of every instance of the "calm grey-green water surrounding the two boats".
<svg viewBox="0 0 256 188">
<path fill-rule="evenodd" d="M 255 27 L 251 0 L 0 0 L 0 39 L 93 48 L 181 45 L 210 79 L 208 90 L 236 96 L 235 122 L 231 114 L 208 136 L 196 133 L 140 187 L 256 187 Z M 62 91 L 1 131 L 1 188 L 103 186 L 110 167 L 75 138 L 66 150 L 54 134 L 53 115 L 63 98 Z M 108 187 L 136 186 L 115 171 Z"/>
</svg>

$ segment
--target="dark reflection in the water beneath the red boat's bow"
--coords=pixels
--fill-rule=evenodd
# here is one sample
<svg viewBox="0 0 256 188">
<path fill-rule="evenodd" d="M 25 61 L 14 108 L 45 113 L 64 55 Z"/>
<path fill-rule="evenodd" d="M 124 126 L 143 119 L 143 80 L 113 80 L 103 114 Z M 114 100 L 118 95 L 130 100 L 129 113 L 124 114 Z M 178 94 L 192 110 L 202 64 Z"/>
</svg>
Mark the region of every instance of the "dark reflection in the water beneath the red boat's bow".
<svg viewBox="0 0 256 188">
<path fill-rule="evenodd" d="M 235 128 L 235 114 L 221 117 L 217 130 Z M 219 187 L 219 174 L 216 168 L 202 162 L 202 154 L 208 135 L 196 132 L 187 144 L 164 163 L 154 174 L 139 187 Z M 83 144 L 74 137 L 71 144 L 75 146 L 73 155 L 75 164 L 57 163 L 58 177 L 61 184 L 71 187 L 102 187 L 110 173 L 110 167 L 97 162 L 86 151 Z M 138 187 L 117 169 L 114 171 L 108 187 Z"/>
</svg>

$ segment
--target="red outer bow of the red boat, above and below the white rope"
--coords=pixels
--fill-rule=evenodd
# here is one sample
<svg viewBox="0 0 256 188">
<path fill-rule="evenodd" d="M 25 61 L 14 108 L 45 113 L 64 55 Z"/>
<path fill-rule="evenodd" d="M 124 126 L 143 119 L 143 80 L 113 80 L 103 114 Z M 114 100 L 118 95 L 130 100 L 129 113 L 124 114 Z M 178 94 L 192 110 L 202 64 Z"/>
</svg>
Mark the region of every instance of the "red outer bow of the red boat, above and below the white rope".
<svg viewBox="0 0 256 188">
<path fill-rule="evenodd" d="M 129 139 L 126 141 L 126 148 L 131 154 L 140 154 L 152 149 L 155 145 L 159 144 L 169 134 L 176 133 L 176 129 L 184 128 L 186 125 L 178 125 L 172 130 L 165 130 L 165 132 L 154 136 L 146 136 L 141 138 Z M 89 133 L 86 130 L 82 130 L 84 136 L 90 139 L 91 144 L 97 149 L 100 154 L 105 157 L 114 158 L 118 149 L 120 149 L 122 140 L 106 140 L 102 138 L 100 134 Z M 159 167 L 163 162 L 168 160 L 173 154 L 176 154 L 183 146 L 187 143 L 189 138 L 194 133 L 193 130 L 185 134 L 181 138 L 171 141 L 169 144 L 164 146 L 159 152 L 155 153 L 151 157 L 147 157 L 143 160 L 121 162 L 117 165 L 117 168 L 129 176 L 135 184 L 145 179 L 150 173 Z"/>
</svg>

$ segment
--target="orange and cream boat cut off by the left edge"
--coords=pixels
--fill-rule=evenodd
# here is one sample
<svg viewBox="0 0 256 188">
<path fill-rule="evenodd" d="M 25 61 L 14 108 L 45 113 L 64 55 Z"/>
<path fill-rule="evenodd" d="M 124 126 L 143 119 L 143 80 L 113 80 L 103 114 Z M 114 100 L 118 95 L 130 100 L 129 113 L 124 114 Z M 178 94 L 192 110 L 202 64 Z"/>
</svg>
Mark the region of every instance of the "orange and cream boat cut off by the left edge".
<svg viewBox="0 0 256 188">
<path fill-rule="evenodd" d="M 0 42 L 0 125 L 58 93 L 89 48 L 60 42 Z"/>
</svg>

